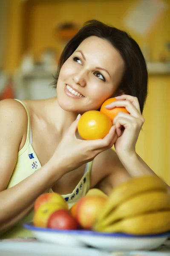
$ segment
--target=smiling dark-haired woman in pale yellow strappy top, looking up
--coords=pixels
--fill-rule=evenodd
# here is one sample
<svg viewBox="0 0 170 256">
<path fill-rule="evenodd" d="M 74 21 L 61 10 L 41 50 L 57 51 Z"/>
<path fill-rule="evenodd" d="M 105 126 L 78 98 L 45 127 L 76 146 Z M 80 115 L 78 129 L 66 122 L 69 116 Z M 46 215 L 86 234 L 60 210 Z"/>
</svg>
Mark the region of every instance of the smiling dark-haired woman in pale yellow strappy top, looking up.
<svg viewBox="0 0 170 256">
<path fill-rule="evenodd" d="M 0 102 L 1 239 L 32 236 L 22 223 L 32 220 L 34 201 L 43 192 L 60 193 L 71 207 L 90 188 L 109 195 L 130 177 L 154 175 L 135 152 L 147 79 L 138 44 L 92 20 L 63 50 L 57 98 Z M 113 96 L 118 101 L 108 108 L 123 106 L 130 115 L 120 112 L 102 140 L 78 139 L 80 114 L 98 110 Z"/>
</svg>

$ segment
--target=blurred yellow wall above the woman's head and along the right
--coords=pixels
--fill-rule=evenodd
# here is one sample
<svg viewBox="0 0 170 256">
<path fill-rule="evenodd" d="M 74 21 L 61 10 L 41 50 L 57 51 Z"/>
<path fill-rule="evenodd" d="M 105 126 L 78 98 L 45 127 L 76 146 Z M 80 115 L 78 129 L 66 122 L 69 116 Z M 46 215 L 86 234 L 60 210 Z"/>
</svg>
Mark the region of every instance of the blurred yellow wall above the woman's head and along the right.
<svg viewBox="0 0 170 256">
<path fill-rule="evenodd" d="M 15 70 L 21 52 L 30 50 L 35 60 L 39 60 L 41 52 L 46 47 L 54 47 L 58 54 L 63 45 L 54 34 L 54 27 L 63 21 L 73 21 L 80 26 L 89 19 L 98 19 L 104 23 L 110 23 L 119 29 L 127 30 L 122 19 L 128 8 L 132 8 L 138 2 L 136 0 L 106 0 L 106 1 L 34 1 L 30 5 L 27 16 L 29 20 L 25 27 L 24 38 L 20 38 L 22 31 L 21 19 L 22 2 L 11 0 L 12 17 L 9 20 L 9 43 L 7 51 L 10 55 L 6 59 L 5 69 Z M 165 0 L 170 5 L 169 0 Z M 150 49 L 152 61 L 159 61 L 165 57 L 170 59 L 170 52 L 165 49 L 165 43 L 170 41 L 169 26 L 170 8 L 166 10 L 150 35 L 142 37 L 129 31 L 142 48 L 146 43 Z M 15 33 L 14 33 L 15 31 Z M 13 42 L 13 43 L 12 43 Z M 19 46 L 19 47 L 18 47 Z M 21 49 L 20 49 L 21 47 Z M 167 183 L 170 184 L 170 76 L 150 76 L 149 94 L 144 110 L 145 124 L 141 131 L 137 151 L 147 164 Z"/>
</svg>

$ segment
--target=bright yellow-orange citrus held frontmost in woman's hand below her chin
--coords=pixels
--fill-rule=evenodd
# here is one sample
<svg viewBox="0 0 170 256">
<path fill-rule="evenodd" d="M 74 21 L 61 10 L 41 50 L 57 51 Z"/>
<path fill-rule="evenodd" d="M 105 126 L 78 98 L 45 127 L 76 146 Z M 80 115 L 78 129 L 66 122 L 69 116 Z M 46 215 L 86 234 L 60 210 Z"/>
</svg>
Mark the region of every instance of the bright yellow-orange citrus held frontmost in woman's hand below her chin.
<svg viewBox="0 0 170 256">
<path fill-rule="evenodd" d="M 78 133 L 84 140 L 103 139 L 111 127 L 110 119 L 96 110 L 85 112 L 78 121 Z"/>
</svg>

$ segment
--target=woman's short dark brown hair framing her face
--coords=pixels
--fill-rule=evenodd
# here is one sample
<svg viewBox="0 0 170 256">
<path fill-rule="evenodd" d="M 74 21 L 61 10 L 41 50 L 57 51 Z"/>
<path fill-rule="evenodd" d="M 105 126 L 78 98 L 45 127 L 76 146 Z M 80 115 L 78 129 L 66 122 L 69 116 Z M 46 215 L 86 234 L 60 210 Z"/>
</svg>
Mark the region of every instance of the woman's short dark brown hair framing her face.
<svg viewBox="0 0 170 256">
<path fill-rule="evenodd" d="M 123 90 L 125 94 L 137 97 L 142 113 L 147 97 L 148 73 L 141 49 L 127 32 L 108 26 L 98 20 L 87 21 L 66 44 L 52 85 L 57 87 L 58 76 L 63 63 L 75 52 L 81 42 L 90 36 L 97 36 L 109 41 L 121 54 L 125 63 L 125 71 L 118 89 Z"/>
</svg>

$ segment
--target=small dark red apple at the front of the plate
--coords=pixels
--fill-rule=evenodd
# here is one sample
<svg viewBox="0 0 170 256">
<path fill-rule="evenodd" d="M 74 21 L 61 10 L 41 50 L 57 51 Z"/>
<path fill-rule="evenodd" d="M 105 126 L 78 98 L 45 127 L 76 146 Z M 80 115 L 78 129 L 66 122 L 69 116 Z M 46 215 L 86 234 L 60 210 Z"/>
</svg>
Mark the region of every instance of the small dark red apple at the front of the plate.
<svg viewBox="0 0 170 256">
<path fill-rule="evenodd" d="M 59 230 L 77 230 L 78 223 L 69 211 L 61 209 L 50 215 L 47 227 Z"/>
</svg>

